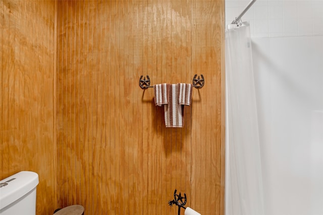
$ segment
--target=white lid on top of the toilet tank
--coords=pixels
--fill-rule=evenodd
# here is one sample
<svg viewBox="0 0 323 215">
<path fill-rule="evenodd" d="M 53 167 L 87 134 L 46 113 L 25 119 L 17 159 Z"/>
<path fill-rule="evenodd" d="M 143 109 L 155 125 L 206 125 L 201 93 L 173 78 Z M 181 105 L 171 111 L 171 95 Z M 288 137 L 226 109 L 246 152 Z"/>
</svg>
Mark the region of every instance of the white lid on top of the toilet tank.
<svg viewBox="0 0 323 215">
<path fill-rule="evenodd" d="M 6 182 L 6 185 L 2 184 Z M 0 186 L 2 187 L 0 187 L 0 209 L 27 194 L 37 186 L 38 182 L 38 174 L 30 171 L 22 171 L 1 180 Z"/>
</svg>

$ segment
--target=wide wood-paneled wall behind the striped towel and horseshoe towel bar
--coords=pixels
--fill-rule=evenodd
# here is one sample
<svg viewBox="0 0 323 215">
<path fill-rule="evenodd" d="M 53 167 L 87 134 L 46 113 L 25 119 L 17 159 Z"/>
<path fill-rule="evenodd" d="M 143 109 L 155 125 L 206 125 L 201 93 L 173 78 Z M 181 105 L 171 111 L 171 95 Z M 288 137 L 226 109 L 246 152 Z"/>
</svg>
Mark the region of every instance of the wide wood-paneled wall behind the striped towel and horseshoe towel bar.
<svg viewBox="0 0 323 215">
<path fill-rule="evenodd" d="M 224 0 L 59 1 L 58 199 L 85 214 L 224 214 Z M 151 84 L 191 83 L 166 128 Z M 184 210 L 182 211 L 184 214 Z"/>
</svg>

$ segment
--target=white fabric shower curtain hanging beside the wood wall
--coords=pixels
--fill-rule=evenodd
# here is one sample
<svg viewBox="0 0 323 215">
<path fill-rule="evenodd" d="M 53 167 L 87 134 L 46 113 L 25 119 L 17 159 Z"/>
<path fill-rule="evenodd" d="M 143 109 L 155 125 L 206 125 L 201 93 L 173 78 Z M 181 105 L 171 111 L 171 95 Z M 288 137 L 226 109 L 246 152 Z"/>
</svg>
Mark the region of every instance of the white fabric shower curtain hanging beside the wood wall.
<svg viewBox="0 0 323 215">
<path fill-rule="evenodd" d="M 226 215 L 263 215 L 261 160 L 248 23 L 226 29 Z"/>
</svg>

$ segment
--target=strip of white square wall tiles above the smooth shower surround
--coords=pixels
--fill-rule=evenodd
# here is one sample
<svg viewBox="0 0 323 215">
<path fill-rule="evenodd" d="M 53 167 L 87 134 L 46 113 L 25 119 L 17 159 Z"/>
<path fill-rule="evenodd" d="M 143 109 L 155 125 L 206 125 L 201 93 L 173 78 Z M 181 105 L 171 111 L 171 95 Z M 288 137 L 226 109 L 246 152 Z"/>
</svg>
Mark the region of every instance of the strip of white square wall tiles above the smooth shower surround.
<svg viewBox="0 0 323 215">
<path fill-rule="evenodd" d="M 249 2 L 226 0 L 226 24 Z M 252 37 L 323 35 L 323 0 L 257 0 L 242 21 L 250 22 Z"/>
</svg>

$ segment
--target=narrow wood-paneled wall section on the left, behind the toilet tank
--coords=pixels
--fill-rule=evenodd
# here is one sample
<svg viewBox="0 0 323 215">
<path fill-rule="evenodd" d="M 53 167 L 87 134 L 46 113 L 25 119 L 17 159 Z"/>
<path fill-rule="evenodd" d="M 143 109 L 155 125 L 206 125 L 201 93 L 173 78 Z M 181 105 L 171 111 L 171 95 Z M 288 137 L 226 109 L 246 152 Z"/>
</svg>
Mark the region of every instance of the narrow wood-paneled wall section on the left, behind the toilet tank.
<svg viewBox="0 0 323 215">
<path fill-rule="evenodd" d="M 39 175 L 37 214 L 56 197 L 55 1 L 0 1 L 0 178 Z"/>
</svg>

